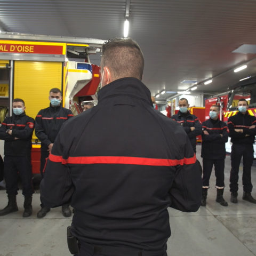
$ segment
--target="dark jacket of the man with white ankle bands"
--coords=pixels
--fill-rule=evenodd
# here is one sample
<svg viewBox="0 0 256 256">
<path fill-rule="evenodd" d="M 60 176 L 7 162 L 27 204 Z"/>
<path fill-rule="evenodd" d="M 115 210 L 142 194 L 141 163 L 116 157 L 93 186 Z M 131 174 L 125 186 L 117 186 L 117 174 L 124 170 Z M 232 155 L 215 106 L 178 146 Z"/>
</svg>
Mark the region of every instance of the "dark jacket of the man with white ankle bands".
<svg viewBox="0 0 256 256">
<path fill-rule="evenodd" d="M 207 159 L 226 158 L 225 143 L 228 141 L 227 124 L 220 121 L 220 119 L 213 120 L 210 118 L 203 122 L 202 126 L 203 131 L 207 131 L 209 135 L 202 133 L 201 156 Z"/>
</svg>

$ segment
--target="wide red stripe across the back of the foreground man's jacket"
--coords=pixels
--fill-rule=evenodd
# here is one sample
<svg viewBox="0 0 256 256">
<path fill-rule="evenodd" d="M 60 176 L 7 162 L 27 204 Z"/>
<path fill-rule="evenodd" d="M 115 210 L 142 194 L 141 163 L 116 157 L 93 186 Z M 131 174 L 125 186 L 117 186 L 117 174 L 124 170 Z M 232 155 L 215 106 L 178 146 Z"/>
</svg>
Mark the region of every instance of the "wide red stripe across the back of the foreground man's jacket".
<svg viewBox="0 0 256 256">
<path fill-rule="evenodd" d="M 183 159 L 159 159 L 159 158 L 144 158 L 130 156 L 70 156 L 68 159 L 63 159 L 61 156 L 49 155 L 52 162 L 62 164 L 137 164 L 137 165 L 152 165 L 152 166 L 175 166 L 183 164 L 194 164 L 196 155 L 190 158 Z"/>
</svg>

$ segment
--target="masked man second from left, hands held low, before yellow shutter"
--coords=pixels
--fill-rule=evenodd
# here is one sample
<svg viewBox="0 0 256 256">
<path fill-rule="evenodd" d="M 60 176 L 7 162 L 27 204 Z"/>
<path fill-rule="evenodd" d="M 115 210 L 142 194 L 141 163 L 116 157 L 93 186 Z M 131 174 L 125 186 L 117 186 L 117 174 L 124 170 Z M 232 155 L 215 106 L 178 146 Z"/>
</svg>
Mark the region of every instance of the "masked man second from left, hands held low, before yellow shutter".
<svg viewBox="0 0 256 256">
<path fill-rule="evenodd" d="M 45 159 L 51 153 L 53 142 L 57 137 L 58 132 L 64 122 L 70 117 L 73 117 L 71 110 L 61 106 L 61 91 L 58 88 L 50 90 L 49 95 L 50 107 L 41 109 L 36 116 L 35 133 L 41 140 L 41 163 L 40 172 L 43 178 Z M 50 211 L 49 207 L 45 207 L 41 200 L 41 210 L 37 213 L 38 218 L 43 218 Z M 69 204 L 62 205 L 62 214 L 64 217 L 71 216 Z"/>
</svg>

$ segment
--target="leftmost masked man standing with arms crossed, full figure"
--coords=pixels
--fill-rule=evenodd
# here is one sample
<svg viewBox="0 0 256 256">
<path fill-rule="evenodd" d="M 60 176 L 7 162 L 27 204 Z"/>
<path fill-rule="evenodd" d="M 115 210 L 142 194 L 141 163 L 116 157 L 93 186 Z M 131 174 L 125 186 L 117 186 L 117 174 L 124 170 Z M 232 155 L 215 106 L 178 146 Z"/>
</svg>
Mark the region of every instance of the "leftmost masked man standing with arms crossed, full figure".
<svg viewBox="0 0 256 256">
<path fill-rule="evenodd" d="M 25 197 L 23 217 L 32 214 L 31 138 L 34 119 L 25 113 L 25 102 L 14 99 L 13 115 L 6 117 L 0 127 L 0 139 L 4 140 L 4 179 L 8 196 L 7 206 L 0 211 L 0 216 L 18 211 L 18 177 L 22 181 L 22 194 Z"/>
</svg>

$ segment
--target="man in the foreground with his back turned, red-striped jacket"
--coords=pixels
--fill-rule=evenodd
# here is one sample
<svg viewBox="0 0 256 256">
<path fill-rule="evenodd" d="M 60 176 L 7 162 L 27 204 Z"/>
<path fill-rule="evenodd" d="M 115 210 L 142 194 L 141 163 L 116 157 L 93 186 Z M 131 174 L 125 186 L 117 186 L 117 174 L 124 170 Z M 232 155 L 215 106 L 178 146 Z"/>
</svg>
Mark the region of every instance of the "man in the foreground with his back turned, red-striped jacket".
<svg viewBox="0 0 256 256">
<path fill-rule="evenodd" d="M 153 108 L 143 65 L 132 39 L 103 45 L 99 103 L 62 126 L 49 156 L 42 199 L 76 209 L 79 256 L 167 255 L 167 208 L 200 206 L 194 151 L 182 127 Z"/>
</svg>

